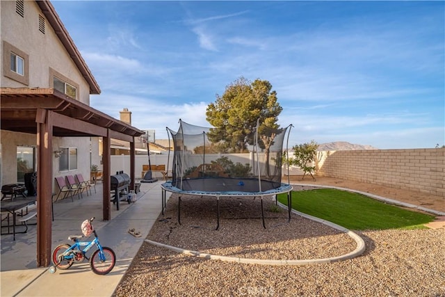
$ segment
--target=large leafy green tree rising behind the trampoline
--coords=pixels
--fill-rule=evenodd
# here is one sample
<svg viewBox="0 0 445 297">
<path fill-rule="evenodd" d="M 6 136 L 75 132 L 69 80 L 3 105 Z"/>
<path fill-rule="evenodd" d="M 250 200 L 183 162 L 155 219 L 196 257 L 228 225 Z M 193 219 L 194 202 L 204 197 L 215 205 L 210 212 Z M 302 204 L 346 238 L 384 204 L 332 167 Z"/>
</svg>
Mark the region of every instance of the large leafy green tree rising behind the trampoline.
<svg viewBox="0 0 445 297">
<path fill-rule="evenodd" d="M 207 106 L 207 121 L 216 129 L 209 133 L 213 142 L 220 142 L 222 151 L 244 152 L 253 144 L 254 128 L 259 120 L 259 134 L 266 154 L 275 134 L 261 132 L 278 129 L 278 115 L 282 107 L 277 102 L 277 93 L 269 81 L 244 77 L 236 79 L 225 88 L 225 93 L 216 95 L 216 102 Z M 268 156 L 266 156 L 268 160 Z"/>
</svg>

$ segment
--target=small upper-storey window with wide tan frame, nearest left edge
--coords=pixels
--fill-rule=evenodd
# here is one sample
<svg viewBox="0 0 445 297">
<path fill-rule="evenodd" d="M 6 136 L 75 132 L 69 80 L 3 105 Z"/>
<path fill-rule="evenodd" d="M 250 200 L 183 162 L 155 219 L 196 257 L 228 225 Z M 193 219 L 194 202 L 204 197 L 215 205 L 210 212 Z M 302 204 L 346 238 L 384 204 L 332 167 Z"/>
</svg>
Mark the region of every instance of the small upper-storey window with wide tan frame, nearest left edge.
<svg viewBox="0 0 445 297">
<path fill-rule="evenodd" d="M 29 55 L 3 40 L 3 76 L 29 85 Z"/>
</svg>

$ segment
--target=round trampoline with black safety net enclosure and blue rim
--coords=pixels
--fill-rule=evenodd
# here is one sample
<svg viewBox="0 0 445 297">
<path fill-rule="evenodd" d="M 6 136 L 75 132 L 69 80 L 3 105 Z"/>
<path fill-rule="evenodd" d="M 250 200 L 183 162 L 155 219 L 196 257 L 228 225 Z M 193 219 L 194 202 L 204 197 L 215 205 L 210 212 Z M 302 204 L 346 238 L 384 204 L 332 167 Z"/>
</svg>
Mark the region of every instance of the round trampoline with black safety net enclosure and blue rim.
<svg viewBox="0 0 445 297">
<path fill-rule="evenodd" d="M 282 147 L 290 127 L 291 125 L 282 129 L 265 129 L 260 128 L 258 121 L 252 135 L 243 138 L 245 143 L 241 144 L 242 152 L 230 152 L 227 149 L 227 140 L 222 139 L 225 135 L 222 129 L 195 126 L 181 120 L 177 131 L 167 128 L 169 140 L 172 136 L 175 150 L 172 180 L 161 184 L 162 214 L 166 207 L 166 192 L 179 195 L 177 209 L 179 224 L 181 224 L 183 195 L 213 197 L 216 198 L 216 230 L 218 230 L 221 198 L 234 196 L 260 198 L 261 218 L 263 227 L 266 228 L 263 198 L 275 195 L 277 202 L 277 194 L 287 193 L 289 222 L 293 188 L 289 180 L 287 184 L 282 183 L 281 177 Z M 289 133 L 287 136 L 289 138 Z"/>
</svg>

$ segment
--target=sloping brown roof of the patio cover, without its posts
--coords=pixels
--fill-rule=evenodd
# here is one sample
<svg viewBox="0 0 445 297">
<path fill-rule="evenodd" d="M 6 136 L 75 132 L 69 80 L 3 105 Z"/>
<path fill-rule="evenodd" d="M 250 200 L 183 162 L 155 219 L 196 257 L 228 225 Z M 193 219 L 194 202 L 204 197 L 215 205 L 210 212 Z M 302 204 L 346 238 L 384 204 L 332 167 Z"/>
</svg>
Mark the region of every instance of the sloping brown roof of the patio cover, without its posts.
<svg viewBox="0 0 445 297">
<path fill-rule="evenodd" d="M 145 134 L 52 88 L 0 88 L 0 95 L 3 130 L 37 134 L 42 111 L 51 111 L 56 118 L 54 136 L 108 136 L 109 129 L 115 132 L 113 138 L 132 142 Z"/>
</svg>

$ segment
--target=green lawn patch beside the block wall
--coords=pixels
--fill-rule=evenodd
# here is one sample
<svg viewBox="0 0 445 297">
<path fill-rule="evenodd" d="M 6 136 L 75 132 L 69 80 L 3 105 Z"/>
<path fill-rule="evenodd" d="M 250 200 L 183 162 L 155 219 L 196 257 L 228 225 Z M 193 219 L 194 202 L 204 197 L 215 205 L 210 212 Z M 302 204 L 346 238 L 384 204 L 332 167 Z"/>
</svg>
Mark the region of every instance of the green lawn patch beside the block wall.
<svg viewBox="0 0 445 297">
<path fill-rule="evenodd" d="M 278 201 L 287 205 L 286 194 L 278 195 Z M 416 229 L 435 219 L 429 214 L 333 188 L 293 191 L 292 208 L 350 230 Z"/>
</svg>

